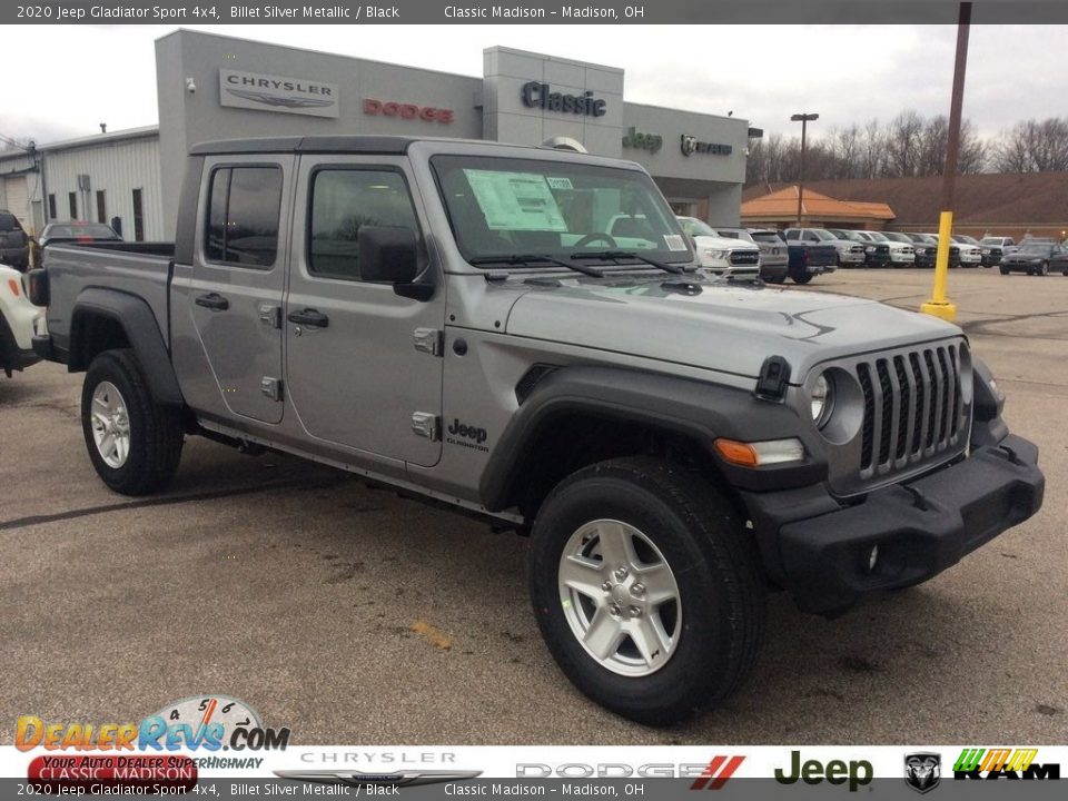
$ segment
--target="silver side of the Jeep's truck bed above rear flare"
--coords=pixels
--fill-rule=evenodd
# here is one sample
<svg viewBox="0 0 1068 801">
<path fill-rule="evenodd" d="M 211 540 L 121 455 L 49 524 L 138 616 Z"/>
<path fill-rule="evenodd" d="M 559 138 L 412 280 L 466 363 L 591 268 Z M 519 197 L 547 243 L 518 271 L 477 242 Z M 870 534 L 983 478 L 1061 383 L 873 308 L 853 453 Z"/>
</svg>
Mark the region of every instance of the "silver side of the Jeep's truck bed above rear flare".
<svg viewBox="0 0 1068 801">
<path fill-rule="evenodd" d="M 57 346 L 70 340 L 69 312 L 85 293 L 93 289 L 128 293 L 152 310 L 167 347 L 170 346 L 168 278 L 174 264 L 174 243 L 56 244 L 44 249 L 51 303 L 48 330 Z"/>
</svg>

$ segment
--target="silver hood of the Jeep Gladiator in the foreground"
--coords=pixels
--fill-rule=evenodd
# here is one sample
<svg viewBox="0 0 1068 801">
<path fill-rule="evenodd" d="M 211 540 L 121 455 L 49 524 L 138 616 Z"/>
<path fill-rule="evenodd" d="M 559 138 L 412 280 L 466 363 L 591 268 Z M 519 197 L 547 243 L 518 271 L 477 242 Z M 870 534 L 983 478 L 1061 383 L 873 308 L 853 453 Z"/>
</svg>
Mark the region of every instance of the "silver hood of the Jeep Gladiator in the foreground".
<svg viewBox="0 0 1068 801">
<path fill-rule="evenodd" d="M 693 280 L 690 278 L 689 280 Z M 874 300 L 672 276 L 568 281 L 516 300 L 510 335 L 755 377 L 783 356 L 800 383 L 821 362 L 960 335 L 957 326 Z"/>
</svg>

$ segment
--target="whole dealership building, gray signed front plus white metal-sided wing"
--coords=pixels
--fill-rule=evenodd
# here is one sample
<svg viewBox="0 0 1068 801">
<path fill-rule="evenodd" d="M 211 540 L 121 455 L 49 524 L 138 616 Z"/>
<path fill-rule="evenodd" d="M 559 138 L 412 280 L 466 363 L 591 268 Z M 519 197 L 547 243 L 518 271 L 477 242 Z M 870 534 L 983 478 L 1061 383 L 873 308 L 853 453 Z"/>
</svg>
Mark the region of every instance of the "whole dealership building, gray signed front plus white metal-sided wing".
<svg viewBox="0 0 1068 801">
<path fill-rule="evenodd" d="M 159 126 L 0 154 L 0 208 L 27 230 L 115 220 L 175 234 L 185 156 L 200 141 L 350 134 L 552 145 L 637 161 L 679 214 L 738 225 L 745 120 L 626 102 L 624 72 L 493 47 L 461 76 L 178 30 L 156 42 Z"/>
</svg>

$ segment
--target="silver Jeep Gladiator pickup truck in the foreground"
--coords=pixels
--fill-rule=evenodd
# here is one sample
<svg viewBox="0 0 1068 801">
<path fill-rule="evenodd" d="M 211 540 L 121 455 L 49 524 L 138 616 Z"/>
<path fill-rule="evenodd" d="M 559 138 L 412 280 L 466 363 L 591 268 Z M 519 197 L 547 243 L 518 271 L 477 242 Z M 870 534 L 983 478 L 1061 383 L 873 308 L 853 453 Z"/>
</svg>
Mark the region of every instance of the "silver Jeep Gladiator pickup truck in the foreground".
<svg viewBox="0 0 1068 801">
<path fill-rule="evenodd" d="M 731 693 L 769 589 L 838 614 L 1041 504 L 959 328 L 702 273 L 635 164 L 219 141 L 179 205 L 174 245 L 58 245 L 30 277 L 103 482 L 158 490 L 199 434 L 528 534 L 545 642 L 633 720 Z"/>
</svg>

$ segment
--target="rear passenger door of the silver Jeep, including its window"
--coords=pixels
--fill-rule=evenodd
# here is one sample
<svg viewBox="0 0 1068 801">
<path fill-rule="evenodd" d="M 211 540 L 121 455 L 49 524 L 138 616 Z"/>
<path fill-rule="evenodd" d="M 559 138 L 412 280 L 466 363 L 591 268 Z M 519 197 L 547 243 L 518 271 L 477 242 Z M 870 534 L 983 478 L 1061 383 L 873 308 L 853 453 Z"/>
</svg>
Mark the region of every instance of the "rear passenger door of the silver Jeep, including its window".
<svg viewBox="0 0 1068 801">
<path fill-rule="evenodd" d="M 186 295 L 216 388 L 234 415 L 278 423 L 281 299 L 294 156 L 209 160 L 200 247 Z"/>
</svg>

